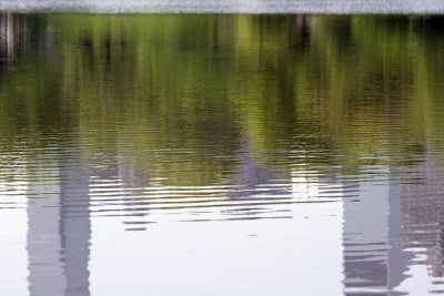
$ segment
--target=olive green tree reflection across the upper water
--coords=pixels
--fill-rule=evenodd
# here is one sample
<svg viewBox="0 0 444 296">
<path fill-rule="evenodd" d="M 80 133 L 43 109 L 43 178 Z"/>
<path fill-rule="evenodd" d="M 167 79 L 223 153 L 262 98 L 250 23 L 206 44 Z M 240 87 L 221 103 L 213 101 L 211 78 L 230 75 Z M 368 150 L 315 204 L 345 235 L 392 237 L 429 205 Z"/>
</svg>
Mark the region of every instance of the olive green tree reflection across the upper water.
<svg viewBox="0 0 444 296">
<path fill-rule="evenodd" d="M 179 185 L 225 182 L 245 149 L 262 165 L 351 174 L 408 162 L 443 144 L 440 28 L 440 17 L 3 14 L 0 149 L 75 136 Z"/>
</svg>

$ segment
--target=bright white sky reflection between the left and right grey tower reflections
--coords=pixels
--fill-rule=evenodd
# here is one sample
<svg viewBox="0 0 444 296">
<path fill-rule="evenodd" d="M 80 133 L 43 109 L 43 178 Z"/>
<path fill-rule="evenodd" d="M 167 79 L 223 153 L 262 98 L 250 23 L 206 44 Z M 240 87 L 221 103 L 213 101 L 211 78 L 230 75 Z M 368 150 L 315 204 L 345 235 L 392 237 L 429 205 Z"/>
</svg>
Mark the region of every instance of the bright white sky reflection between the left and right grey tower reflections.
<svg viewBox="0 0 444 296">
<path fill-rule="evenodd" d="M 293 220 L 92 222 L 93 295 L 342 295 L 341 203 L 294 206 Z M 319 285 L 322 278 L 322 285 Z"/>
</svg>

